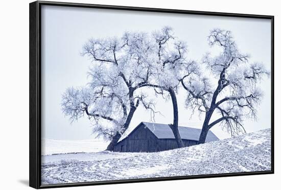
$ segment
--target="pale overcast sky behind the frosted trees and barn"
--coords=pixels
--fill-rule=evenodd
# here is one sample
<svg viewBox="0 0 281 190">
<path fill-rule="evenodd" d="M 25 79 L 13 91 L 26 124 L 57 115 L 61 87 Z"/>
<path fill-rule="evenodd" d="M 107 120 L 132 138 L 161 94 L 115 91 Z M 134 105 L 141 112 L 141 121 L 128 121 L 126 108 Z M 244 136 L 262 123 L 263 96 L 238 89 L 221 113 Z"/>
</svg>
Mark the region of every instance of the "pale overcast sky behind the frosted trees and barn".
<svg viewBox="0 0 281 190">
<path fill-rule="evenodd" d="M 121 37 L 124 31 L 152 32 L 164 26 L 174 29 L 175 36 L 186 41 L 189 56 L 200 61 L 204 53 L 212 51 L 207 44 L 210 30 L 220 28 L 232 31 L 239 50 L 251 56 L 250 62 L 263 62 L 270 70 L 271 23 L 269 19 L 232 18 L 171 13 L 149 13 L 134 11 L 42 7 L 42 138 L 92 139 L 87 118 L 69 123 L 61 111 L 61 94 L 67 87 L 83 86 L 87 81 L 90 61 L 80 52 L 91 37 Z M 257 121 L 245 121 L 247 132 L 271 126 L 270 78 L 261 83 L 264 99 L 257 109 Z M 202 120 L 183 106 L 185 92 L 177 95 L 179 125 L 200 128 Z M 157 99 L 156 123 L 173 122 L 172 103 Z M 150 122 L 150 113 L 138 108 L 130 127 L 140 122 Z M 211 129 L 219 138 L 230 137 L 220 126 Z"/>
</svg>

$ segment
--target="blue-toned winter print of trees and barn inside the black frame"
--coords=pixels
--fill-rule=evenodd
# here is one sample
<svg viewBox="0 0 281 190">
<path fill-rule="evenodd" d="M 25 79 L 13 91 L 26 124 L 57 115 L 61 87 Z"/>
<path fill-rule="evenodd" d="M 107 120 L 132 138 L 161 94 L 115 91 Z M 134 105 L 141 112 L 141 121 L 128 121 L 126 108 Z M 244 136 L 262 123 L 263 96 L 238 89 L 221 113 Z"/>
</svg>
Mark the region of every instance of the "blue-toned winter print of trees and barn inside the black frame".
<svg viewBox="0 0 281 190">
<path fill-rule="evenodd" d="M 40 22 L 42 186 L 273 171 L 271 19 L 42 4 Z"/>
</svg>

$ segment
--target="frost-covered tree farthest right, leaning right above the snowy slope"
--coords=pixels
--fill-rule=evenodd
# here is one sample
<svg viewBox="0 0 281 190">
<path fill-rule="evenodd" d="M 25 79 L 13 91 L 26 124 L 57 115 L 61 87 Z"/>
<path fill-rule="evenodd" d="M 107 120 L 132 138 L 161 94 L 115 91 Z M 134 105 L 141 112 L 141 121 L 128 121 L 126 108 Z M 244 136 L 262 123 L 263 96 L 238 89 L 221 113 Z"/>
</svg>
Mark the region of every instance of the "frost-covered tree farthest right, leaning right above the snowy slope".
<svg viewBox="0 0 281 190">
<path fill-rule="evenodd" d="M 218 46 L 221 53 L 215 57 L 206 54 L 201 68 L 205 72 L 192 80 L 181 80 L 188 92 L 186 107 L 204 114 L 198 144 L 205 142 L 208 130 L 217 124 L 231 136 L 245 133 L 243 121 L 256 118 L 256 108 L 263 97 L 259 83 L 269 76 L 262 63 L 249 63 L 249 56 L 239 52 L 230 31 L 211 31 L 208 43 Z"/>
</svg>

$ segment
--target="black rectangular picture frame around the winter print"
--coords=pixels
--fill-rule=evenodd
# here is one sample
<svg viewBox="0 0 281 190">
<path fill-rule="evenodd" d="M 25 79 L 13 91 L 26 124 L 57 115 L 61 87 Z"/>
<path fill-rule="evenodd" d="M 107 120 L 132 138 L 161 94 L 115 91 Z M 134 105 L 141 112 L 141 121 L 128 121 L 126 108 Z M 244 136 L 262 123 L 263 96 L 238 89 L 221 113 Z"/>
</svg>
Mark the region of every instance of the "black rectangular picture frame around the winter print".
<svg viewBox="0 0 281 190">
<path fill-rule="evenodd" d="M 270 19 L 271 20 L 271 171 L 41 185 L 41 85 L 42 85 L 41 84 L 41 6 L 42 5 Z M 274 173 L 274 16 L 36 1 L 30 3 L 29 38 L 30 38 L 29 184 L 31 187 L 34 188 L 71 187 L 71 186 L 102 185 L 102 184 L 115 184 L 115 183 L 134 183 L 134 182 L 147 182 L 147 181 L 246 176 L 246 175 L 260 175 L 260 174 Z"/>
</svg>

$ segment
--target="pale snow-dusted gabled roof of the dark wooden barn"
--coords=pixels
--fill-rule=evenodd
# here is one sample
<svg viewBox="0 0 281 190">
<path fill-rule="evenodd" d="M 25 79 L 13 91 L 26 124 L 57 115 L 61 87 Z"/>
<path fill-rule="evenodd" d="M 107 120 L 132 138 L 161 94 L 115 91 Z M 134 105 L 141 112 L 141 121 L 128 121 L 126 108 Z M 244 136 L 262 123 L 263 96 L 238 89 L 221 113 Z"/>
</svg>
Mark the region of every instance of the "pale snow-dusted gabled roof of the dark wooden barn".
<svg viewBox="0 0 281 190">
<path fill-rule="evenodd" d="M 157 123 L 148 123 L 148 122 L 142 122 L 157 138 L 175 138 L 172 129 L 167 124 L 157 124 Z M 140 123 L 140 124 L 142 124 Z M 140 126 L 140 124 L 138 126 Z M 191 127 L 182 127 L 178 126 L 179 134 L 182 139 L 186 140 L 199 140 L 199 136 L 201 133 L 201 129 L 191 128 Z M 133 130 L 134 131 L 134 130 Z M 131 132 L 133 132 L 131 131 Z M 131 133 L 130 132 L 130 133 Z M 129 133 L 129 134 L 130 134 Z M 119 141 L 126 138 L 128 135 L 124 136 L 122 135 Z M 219 140 L 219 138 L 212 132 L 208 131 L 206 142 Z"/>
</svg>

